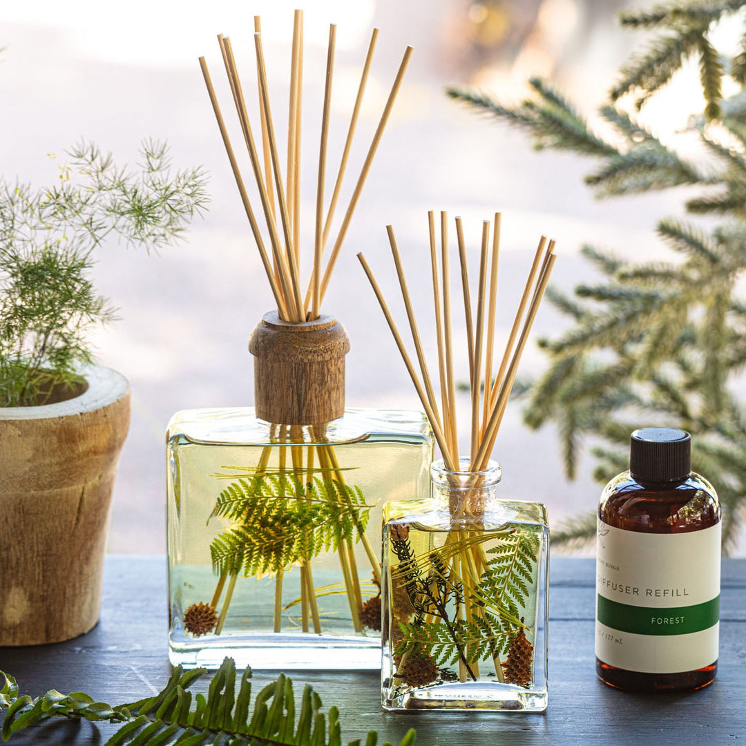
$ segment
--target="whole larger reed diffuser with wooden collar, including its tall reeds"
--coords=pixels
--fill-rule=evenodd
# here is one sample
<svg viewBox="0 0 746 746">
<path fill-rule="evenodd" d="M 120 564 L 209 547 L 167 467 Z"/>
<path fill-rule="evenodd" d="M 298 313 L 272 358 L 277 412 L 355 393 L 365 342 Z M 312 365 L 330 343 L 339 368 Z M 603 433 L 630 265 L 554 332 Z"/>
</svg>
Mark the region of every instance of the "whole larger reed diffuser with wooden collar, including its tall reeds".
<svg viewBox="0 0 746 746">
<path fill-rule="evenodd" d="M 248 201 L 204 58 L 201 67 L 277 310 L 264 316 L 249 342 L 255 357 L 256 410 L 186 410 L 169 424 L 169 657 L 186 667 L 217 668 L 230 655 L 239 668 L 377 670 L 381 511 L 386 501 L 429 492 L 433 436 L 421 413 L 345 410 L 349 341 L 342 325 L 322 313 L 321 304 L 411 48 L 322 266 L 377 36 L 374 31 L 325 209 L 336 38 L 336 27 L 330 27 L 313 272 L 301 286 L 303 14 L 295 12 L 292 34 L 286 169 L 278 160 L 258 18 L 255 29 L 263 159 L 231 42 L 219 37 L 219 43 L 272 258 Z"/>
</svg>

